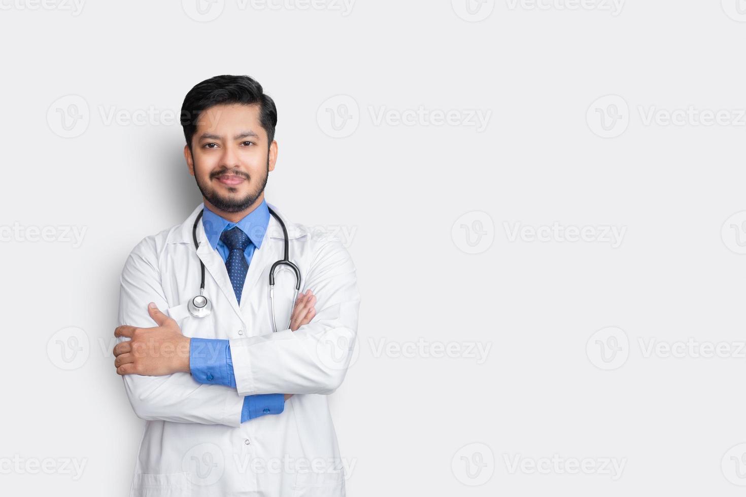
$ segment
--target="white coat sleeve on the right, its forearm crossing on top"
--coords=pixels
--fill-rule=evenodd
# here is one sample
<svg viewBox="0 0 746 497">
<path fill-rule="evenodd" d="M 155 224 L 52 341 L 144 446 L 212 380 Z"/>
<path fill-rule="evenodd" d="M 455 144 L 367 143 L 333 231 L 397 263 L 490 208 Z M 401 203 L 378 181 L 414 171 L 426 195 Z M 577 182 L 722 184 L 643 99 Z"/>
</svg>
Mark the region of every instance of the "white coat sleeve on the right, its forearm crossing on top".
<svg viewBox="0 0 746 497">
<path fill-rule="evenodd" d="M 304 284 L 316 295 L 313 320 L 295 332 L 230 339 L 239 395 L 329 394 L 345 379 L 357 336 L 357 277 L 338 239 L 319 245 Z"/>
</svg>

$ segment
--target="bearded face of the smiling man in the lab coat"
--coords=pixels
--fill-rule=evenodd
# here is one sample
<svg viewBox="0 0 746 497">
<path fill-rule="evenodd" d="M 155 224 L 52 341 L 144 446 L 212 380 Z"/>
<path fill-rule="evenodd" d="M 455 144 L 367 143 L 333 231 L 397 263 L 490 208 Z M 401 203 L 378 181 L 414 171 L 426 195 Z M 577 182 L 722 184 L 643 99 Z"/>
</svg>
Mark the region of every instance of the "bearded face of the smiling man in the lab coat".
<svg viewBox="0 0 746 497">
<path fill-rule="evenodd" d="M 259 115 L 258 105 L 210 107 L 199 115 L 192 150 L 184 146 L 189 174 L 217 214 L 252 210 L 264 199 L 278 145 L 268 143 Z"/>
</svg>

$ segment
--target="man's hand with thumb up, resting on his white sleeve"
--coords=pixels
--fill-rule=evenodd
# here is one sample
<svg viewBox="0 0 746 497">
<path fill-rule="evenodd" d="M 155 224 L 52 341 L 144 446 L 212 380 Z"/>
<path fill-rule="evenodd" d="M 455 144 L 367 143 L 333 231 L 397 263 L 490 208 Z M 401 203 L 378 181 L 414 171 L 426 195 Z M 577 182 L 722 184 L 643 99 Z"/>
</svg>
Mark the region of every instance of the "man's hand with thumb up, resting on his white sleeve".
<svg viewBox="0 0 746 497">
<path fill-rule="evenodd" d="M 158 326 L 136 328 L 123 325 L 114 330 L 115 337 L 130 338 L 114 346 L 116 374 L 163 376 L 189 373 L 189 338 L 182 335 L 175 320 L 151 304 L 148 314 Z"/>
</svg>

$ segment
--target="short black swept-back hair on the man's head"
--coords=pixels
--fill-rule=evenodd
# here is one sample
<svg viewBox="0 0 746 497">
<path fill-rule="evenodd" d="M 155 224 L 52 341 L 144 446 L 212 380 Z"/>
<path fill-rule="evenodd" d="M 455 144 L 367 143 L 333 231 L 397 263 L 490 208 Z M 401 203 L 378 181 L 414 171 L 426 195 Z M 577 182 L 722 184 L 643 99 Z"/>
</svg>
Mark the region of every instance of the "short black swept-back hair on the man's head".
<svg viewBox="0 0 746 497">
<path fill-rule="evenodd" d="M 210 107 L 222 104 L 259 105 L 259 122 L 267 133 L 268 147 L 275 139 L 278 110 L 275 101 L 265 95 L 257 80 L 249 76 L 221 75 L 197 83 L 184 97 L 181 105 L 181 126 L 184 139 L 192 150 L 192 136 L 197 131 L 199 115 Z"/>
</svg>

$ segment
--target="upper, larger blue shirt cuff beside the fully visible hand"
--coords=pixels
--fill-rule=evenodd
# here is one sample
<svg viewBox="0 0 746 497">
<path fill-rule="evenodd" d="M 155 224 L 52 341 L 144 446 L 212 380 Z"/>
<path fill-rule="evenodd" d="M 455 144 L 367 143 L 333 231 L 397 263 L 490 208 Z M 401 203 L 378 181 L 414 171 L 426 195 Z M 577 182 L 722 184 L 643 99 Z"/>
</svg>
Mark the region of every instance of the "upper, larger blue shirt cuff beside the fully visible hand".
<svg viewBox="0 0 746 497">
<path fill-rule="evenodd" d="M 219 338 L 191 338 L 189 372 L 197 382 L 235 388 L 230 341 Z"/>
</svg>

